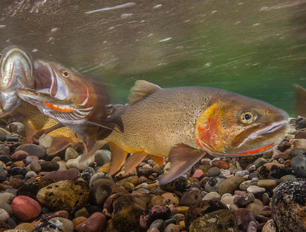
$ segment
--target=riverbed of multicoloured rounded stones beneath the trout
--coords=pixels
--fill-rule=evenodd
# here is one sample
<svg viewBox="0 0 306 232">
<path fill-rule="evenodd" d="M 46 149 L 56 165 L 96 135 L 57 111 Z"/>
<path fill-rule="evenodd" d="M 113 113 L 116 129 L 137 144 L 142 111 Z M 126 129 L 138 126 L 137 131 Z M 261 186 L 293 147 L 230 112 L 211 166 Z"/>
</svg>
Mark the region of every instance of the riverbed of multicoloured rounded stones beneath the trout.
<svg viewBox="0 0 306 232">
<path fill-rule="evenodd" d="M 146 158 L 127 176 L 124 166 L 110 176 L 107 146 L 86 163 L 73 147 L 50 157 L 22 143 L 22 123 L 2 119 L 0 232 L 306 231 L 306 118 L 290 124 L 270 152 L 204 158 L 159 186 L 167 159 L 159 166 Z"/>
</svg>

